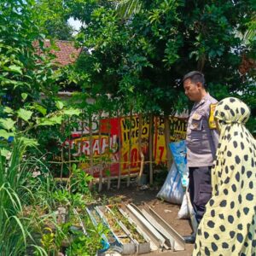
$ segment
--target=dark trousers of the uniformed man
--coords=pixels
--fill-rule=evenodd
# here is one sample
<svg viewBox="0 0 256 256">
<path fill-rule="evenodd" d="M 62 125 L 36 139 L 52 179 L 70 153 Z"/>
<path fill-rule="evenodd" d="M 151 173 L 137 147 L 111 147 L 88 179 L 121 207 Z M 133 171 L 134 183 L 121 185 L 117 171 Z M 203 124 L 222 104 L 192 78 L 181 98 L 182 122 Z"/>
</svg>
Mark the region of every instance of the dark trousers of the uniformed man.
<svg viewBox="0 0 256 256">
<path fill-rule="evenodd" d="M 189 196 L 195 218 L 200 223 L 212 196 L 211 166 L 189 167 Z"/>
</svg>

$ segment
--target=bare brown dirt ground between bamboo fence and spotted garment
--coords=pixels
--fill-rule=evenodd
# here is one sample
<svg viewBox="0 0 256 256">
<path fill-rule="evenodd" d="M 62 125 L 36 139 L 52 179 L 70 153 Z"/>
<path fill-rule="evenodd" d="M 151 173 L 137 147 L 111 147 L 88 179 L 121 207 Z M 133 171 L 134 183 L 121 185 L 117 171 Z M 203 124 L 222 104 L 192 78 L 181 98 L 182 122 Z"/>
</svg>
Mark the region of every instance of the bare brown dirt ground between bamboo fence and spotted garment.
<svg viewBox="0 0 256 256">
<path fill-rule="evenodd" d="M 149 187 L 146 186 L 143 189 L 137 187 L 137 183 L 131 183 L 130 187 L 127 188 L 126 184 L 123 183 L 121 189 L 117 189 L 114 184 L 111 185 L 111 189 L 102 191 L 102 195 L 105 198 L 110 198 L 109 202 L 116 201 L 122 204 L 134 203 L 137 207 L 142 208 L 143 204 L 148 204 L 154 208 L 161 218 L 165 219 L 168 224 L 172 225 L 172 228 L 177 230 L 181 236 L 189 236 L 192 232 L 189 220 L 177 219 L 177 212 L 180 206 L 172 205 L 165 201 L 160 201 L 156 198 L 157 193 L 160 190 L 160 186 Z M 181 252 L 154 252 L 143 255 L 157 255 L 157 256 L 189 256 L 192 254 L 193 245 L 186 244 L 185 251 Z"/>
</svg>

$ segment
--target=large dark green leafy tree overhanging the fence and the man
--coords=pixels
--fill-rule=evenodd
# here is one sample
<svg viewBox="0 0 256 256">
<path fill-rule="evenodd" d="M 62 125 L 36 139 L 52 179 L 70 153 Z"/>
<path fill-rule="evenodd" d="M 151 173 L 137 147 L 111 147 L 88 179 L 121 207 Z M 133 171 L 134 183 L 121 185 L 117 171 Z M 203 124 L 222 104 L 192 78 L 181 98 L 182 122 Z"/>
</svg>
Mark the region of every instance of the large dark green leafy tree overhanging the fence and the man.
<svg viewBox="0 0 256 256">
<path fill-rule="evenodd" d="M 116 2 L 96 0 L 67 4 L 86 24 L 77 38 L 84 47 L 77 66 L 84 90 L 170 113 L 185 107 L 183 74 L 201 70 L 218 99 L 243 97 L 248 90 L 255 96 L 254 74 L 239 73 L 242 53 L 255 49 L 255 38 L 248 44 L 243 39 L 252 26 L 253 1 L 119 2 L 127 4 L 126 13 L 131 3 L 140 11 L 122 16 Z"/>
</svg>

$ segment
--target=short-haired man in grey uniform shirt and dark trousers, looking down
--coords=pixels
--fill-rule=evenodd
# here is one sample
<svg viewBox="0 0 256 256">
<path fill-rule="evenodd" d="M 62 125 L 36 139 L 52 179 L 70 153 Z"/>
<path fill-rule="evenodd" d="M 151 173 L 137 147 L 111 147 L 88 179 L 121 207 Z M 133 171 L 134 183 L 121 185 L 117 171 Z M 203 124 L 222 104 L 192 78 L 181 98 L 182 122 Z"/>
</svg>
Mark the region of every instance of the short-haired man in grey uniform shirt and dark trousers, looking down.
<svg viewBox="0 0 256 256">
<path fill-rule="evenodd" d="M 211 167 L 218 147 L 218 131 L 214 124 L 211 127 L 209 119 L 210 109 L 217 101 L 207 93 L 205 78 L 201 72 L 187 73 L 183 77 L 183 87 L 189 100 L 195 102 L 189 114 L 186 144 L 189 197 L 199 224 L 212 195 Z M 195 234 L 196 230 L 191 236 L 184 236 L 184 240 L 195 242 Z"/>
</svg>

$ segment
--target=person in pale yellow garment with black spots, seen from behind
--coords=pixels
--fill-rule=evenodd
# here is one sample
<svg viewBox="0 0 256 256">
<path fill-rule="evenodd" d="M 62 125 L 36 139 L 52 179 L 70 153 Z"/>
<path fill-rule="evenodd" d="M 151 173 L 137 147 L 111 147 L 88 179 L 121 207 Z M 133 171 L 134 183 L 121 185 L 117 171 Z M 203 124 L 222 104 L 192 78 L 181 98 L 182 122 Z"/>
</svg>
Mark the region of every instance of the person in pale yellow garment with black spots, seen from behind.
<svg viewBox="0 0 256 256">
<path fill-rule="evenodd" d="M 214 117 L 220 138 L 212 166 L 212 198 L 197 230 L 193 256 L 256 256 L 256 141 L 245 123 L 250 110 L 230 97 Z"/>
</svg>

